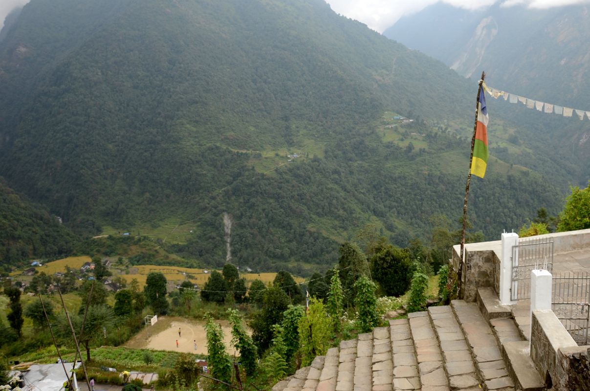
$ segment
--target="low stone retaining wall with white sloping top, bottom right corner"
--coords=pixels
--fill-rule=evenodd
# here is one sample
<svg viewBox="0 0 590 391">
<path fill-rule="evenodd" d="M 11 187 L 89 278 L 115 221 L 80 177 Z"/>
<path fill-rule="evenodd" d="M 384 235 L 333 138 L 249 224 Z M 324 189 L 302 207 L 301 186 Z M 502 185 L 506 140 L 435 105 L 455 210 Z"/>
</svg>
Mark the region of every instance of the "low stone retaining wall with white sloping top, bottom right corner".
<svg viewBox="0 0 590 391">
<path fill-rule="evenodd" d="M 590 346 L 578 346 L 551 310 L 533 311 L 530 357 L 556 391 L 590 391 Z"/>
</svg>

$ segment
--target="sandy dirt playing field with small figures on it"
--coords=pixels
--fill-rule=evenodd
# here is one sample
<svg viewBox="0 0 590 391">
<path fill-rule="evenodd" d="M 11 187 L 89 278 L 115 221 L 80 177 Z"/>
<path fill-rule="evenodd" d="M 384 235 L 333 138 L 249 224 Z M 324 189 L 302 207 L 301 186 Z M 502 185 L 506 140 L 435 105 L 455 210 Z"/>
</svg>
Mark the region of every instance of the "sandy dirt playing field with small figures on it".
<svg viewBox="0 0 590 391">
<path fill-rule="evenodd" d="M 231 347 L 230 324 L 226 320 L 216 322 L 221 324 L 225 336 L 225 346 L 228 347 L 227 353 L 234 356 L 235 350 Z M 180 337 L 178 336 L 178 328 L 181 329 Z M 176 347 L 176 340 L 178 340 L 178 347 Z M 194 341 L 196 341 L 196 350 Z M 125 346 L 134 349 L 174 350 L 183 353 L 207 354 L 205 322 L 181 317 L 161 317 L 158 323 L 145 327 Z"/>
</svg>

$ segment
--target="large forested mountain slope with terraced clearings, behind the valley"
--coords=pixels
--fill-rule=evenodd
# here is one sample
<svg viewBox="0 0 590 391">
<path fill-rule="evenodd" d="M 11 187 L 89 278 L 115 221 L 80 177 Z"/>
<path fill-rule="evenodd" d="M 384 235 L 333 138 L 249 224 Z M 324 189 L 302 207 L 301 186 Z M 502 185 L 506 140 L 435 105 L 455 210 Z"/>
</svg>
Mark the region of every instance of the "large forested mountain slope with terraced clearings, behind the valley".
<svg viewBox="0 0 590 391">
<path fill-rule="evenodd" d="M 322 0 L 32 0 L 2 35 L 0 175 L 78 232 L 176 216 L 176 250 L 221 264 L 229 213 L 235 262 L 292 268 L 368 222 L 404 244 L 460 214 L 477 86 Z M 568 183 L 511 126 L 513 165 L 474 186 L 486 235 Z"/>
</svg>

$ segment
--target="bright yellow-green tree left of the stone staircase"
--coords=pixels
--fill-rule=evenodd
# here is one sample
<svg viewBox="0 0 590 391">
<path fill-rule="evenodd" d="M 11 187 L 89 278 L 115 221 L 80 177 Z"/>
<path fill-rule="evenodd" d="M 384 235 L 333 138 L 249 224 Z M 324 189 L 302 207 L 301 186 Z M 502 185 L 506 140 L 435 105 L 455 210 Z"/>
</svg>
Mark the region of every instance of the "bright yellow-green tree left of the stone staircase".
<svg viewBox="0 0 590 391">
<path fill-rule="evenodd" d="M 299 320 L 301 366 L 308 366 L 316 356 L 323 356 L 330 347 L 332 325 L 322 301 L 312 297 L 309 310 Z"/>
</svg>

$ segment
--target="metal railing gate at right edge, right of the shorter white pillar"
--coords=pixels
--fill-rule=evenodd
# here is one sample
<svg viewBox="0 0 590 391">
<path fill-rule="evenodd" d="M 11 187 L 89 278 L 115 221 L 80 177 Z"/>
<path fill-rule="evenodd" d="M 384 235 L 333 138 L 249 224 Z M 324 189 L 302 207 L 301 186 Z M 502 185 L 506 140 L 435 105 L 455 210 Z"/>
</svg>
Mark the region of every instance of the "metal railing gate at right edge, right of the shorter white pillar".
<svg viewBox="0 0 590 391">
<path fill-rule="evenodd" d="M 553 277 L 551 307 L 578 345 L 590 344 L 590 274 L 568 272 Z"/>
</svg>

